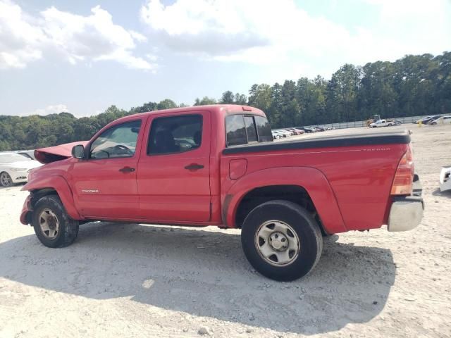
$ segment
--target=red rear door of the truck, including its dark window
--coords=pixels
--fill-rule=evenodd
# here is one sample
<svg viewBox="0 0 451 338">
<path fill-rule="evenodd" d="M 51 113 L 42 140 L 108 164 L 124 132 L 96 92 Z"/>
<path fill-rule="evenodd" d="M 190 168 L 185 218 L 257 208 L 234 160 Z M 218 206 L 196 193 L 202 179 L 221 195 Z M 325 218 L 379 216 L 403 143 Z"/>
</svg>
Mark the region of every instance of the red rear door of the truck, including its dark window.
<svg viewBox="0 0 451 338">
<path fill-rule="evenodd" d="M 210 219 L 211 116 L 152 114 L 137 170 L 140 213 L 159 223 Z"/>
</svg>

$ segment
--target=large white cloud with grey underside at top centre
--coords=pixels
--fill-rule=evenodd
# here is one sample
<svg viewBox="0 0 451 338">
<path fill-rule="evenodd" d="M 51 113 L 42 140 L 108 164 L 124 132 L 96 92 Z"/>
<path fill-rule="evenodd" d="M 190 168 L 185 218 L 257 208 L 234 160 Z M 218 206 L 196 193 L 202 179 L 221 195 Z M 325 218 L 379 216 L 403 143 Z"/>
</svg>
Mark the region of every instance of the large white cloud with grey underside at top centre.
<svg viewBox="0 0 451 338">
<path fill-rule="evenodd" d="M 318 54 L 349 33 L 324 18 L 312 18 L 291 0 L 149 0 L 141 18 L 175 50 L 219 60 L 273 60 L 296 49 Z M 256 56 L 258 56 L 256 58 Z"/>
</svg>

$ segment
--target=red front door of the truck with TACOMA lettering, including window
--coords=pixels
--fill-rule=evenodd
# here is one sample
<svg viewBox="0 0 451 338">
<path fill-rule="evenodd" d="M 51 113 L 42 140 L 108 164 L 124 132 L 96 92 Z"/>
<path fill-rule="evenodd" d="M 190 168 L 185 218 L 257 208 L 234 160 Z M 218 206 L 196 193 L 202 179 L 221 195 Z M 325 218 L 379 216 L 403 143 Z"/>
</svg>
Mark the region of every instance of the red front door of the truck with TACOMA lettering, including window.
<svg viewBox="0 0 451 338">
<path fill-rule="evenodd" d="M 87 145 L 70 170 L 78 211 L 85 218 L 139 218 L 136 173 L 147 118 L 113 125 Z"/>
</svg>

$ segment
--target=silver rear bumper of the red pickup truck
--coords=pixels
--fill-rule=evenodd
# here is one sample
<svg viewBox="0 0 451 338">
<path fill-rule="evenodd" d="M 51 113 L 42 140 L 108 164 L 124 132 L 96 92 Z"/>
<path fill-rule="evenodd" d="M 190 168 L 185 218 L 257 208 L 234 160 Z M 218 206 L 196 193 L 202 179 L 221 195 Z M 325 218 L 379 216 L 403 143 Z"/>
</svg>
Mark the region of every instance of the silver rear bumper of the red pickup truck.
<svg viewBox="0 0 451 338">
<path fill-rule="evenodd" d="M 388 215 L 388 231 L 407 231 L 421 223 L 424 201 L 421 197 L 423 188 L 418 175 L 414 176 L 413 192 L 410 196 L 393 197 Z"/>
</svg>

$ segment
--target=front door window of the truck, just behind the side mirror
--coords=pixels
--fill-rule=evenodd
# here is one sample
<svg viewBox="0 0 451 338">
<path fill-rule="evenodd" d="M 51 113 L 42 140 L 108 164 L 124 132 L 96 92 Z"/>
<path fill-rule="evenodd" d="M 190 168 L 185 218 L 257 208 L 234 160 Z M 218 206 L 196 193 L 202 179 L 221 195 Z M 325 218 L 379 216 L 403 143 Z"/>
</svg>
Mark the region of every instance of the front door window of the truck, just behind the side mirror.
<svg viewBox="0 0 451 338">
<path fill-rule="evenodd" d="M 135 155 L 141 120 L 115 125 L 91 144 L 89 158 L 118 158 Z"/>
</svg>

